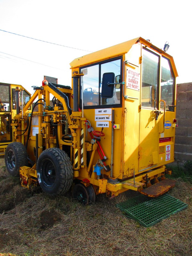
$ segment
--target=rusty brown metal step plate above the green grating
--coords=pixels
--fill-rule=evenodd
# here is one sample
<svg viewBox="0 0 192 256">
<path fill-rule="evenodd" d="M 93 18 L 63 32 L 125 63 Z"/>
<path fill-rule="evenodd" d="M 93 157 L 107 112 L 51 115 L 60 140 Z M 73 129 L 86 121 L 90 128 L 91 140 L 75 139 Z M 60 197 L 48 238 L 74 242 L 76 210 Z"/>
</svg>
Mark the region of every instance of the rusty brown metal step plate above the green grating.
<svg viewBox="0 0 192 256">
<path fill-rule="evenodd" d="M 173 188 L 175 186 L 175 183 L 175 180 L 165 179 L 148 188 L 141 190 L 140 193 L 150 197 L 158 197 Z"/>
</svg>

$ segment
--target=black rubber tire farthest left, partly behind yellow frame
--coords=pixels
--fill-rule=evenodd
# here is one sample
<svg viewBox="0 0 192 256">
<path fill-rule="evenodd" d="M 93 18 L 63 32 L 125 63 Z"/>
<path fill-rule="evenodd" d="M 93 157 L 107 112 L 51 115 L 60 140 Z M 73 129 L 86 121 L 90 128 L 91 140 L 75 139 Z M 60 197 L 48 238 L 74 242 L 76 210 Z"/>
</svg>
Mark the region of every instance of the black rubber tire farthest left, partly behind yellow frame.
<svg viewBox="0 0 192 256">
<path fill-rule="evenodd" d="M 8 144 L 5 150 L 5 166 L 9 174 L 19 176 L 21 166 L 28 165 L 28 154 L 25 146 L 20 142 Z"/>
</svg>

